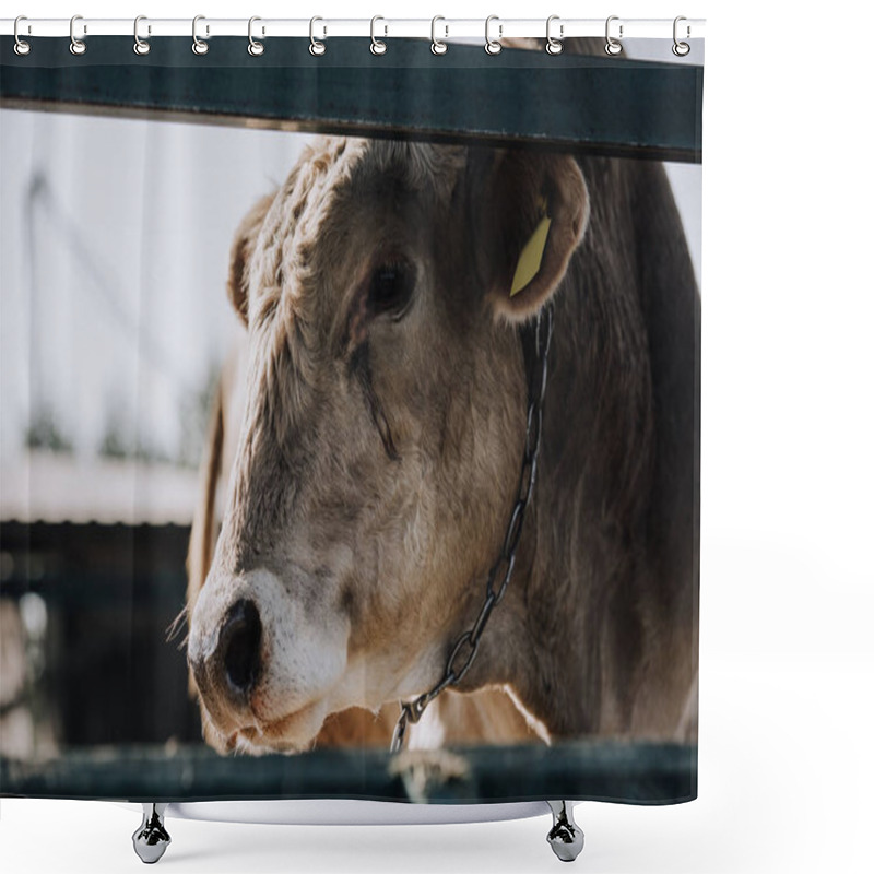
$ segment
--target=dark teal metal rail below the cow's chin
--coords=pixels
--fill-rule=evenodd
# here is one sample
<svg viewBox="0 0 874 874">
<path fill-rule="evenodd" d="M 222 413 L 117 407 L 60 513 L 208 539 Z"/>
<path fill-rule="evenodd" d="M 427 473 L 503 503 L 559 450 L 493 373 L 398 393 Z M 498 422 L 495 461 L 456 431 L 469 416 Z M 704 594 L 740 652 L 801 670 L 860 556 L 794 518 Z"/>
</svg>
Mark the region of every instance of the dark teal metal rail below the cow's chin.
<svg viewBox="0 0 874 874">
<path fill-rule="evenodd" d="M 416 769 L 423 756 L 432 767 Z M 429 775 L 425 782 L 423 770 Z M 565 798 L 669 804 L 696 798 L 697 747 L 583 742 L 401 756 L 355 749 L 229 758 L 202 746 L 182 747 L 175 755 L 163 747 L 113 747 L 68 753 L 39 764 L 0 759 L 0 794 L 128 801 L 345 798 L 452 804 Z"/>
</svg>

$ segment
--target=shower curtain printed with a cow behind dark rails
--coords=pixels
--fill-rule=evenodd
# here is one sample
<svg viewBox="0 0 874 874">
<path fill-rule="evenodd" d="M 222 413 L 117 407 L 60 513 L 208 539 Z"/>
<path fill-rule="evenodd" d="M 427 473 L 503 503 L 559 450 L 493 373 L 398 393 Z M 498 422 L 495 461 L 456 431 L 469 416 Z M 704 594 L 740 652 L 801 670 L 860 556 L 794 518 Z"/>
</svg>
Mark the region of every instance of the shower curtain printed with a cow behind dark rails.
<svg viewBox="0 0 874 874">
<path fill-rule="evenodd" d="M 2 37 L 0 792 L 694 799 L 702 40 L 201 36 Z"/>
</svg>

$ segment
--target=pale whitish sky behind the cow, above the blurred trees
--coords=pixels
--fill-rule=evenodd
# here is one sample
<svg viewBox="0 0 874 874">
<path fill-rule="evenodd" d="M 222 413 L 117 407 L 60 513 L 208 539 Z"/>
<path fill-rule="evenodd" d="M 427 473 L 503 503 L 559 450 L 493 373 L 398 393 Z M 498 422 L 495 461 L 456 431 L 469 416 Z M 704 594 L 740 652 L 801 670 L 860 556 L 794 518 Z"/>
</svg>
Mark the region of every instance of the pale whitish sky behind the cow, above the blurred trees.
<svg viewBox="0 0 874 874">
<path fill-rule="evenodd" d="M 5 463 L 46 405 L 86 457 L 117 420 L 178 454 L 180 408 L 196 402 L 236 328 L 225 296 L 234 231 L 310 139 L 0 110 Z M 699 272 L 700 166 L 670 172 Z"/>
</svg>

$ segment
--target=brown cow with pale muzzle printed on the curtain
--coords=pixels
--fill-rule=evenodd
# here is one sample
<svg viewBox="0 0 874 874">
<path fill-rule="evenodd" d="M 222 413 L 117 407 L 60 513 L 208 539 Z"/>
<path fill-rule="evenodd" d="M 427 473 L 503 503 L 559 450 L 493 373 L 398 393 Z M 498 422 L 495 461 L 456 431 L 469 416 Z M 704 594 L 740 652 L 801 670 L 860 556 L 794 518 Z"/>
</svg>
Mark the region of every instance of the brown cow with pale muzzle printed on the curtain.
<svg viewBox="0 0 874 874">
<path fill-rule="evenodd" d="M 661 165 L 324 139 L 244 221 L 229 294 L 245 409 L 188 642 L 220 748 L 299 749 L 442 676 L 516 501 L 545 306 L 533 501 L 458 688 L 557 737 L 694 732 L 699 300 Z"/>
</svg>

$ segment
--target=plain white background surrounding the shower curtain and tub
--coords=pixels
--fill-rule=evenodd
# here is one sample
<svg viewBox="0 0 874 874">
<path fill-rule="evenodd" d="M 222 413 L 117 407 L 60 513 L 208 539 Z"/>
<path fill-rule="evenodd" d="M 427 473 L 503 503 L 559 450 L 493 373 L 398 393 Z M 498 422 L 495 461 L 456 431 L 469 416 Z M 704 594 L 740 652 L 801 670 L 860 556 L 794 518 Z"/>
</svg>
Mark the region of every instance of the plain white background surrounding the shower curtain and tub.
<svg viewBox="0 0 874 874">
<path fill-rule="evenodd" d="M 706 16 L 698 801 L 584 804 L 587 872 L 867 872 L 874 813 L 870 8 L 466 0 L 258 8 L 35 2 L 87 15 Z M 4 13 L 9 14 L 9 13 Z M 14 14 L 14 12 L 12 13 Z M 3 872 L 140 871 L 138 817 L 3 800 Z M 176 872 L 556 871 L 547 820 L 169 823 Z"/>
</svg>

